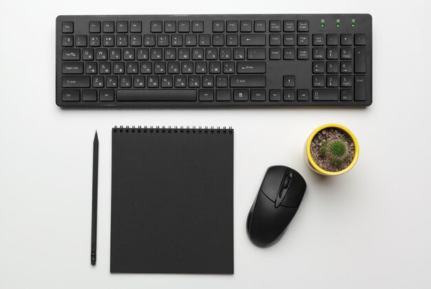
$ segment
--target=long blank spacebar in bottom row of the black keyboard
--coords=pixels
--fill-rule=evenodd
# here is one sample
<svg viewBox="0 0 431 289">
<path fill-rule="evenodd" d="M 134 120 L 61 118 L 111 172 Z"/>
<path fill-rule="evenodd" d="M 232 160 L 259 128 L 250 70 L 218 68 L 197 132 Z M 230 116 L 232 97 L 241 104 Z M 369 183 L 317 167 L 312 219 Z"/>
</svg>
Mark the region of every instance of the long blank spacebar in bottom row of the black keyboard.
<svg viewBox="0 0 431 289">
<path fill-rule="evenodd" d="M 117 90 L 118 101 L 196 101 L 196 90 Z"/>
</svg>

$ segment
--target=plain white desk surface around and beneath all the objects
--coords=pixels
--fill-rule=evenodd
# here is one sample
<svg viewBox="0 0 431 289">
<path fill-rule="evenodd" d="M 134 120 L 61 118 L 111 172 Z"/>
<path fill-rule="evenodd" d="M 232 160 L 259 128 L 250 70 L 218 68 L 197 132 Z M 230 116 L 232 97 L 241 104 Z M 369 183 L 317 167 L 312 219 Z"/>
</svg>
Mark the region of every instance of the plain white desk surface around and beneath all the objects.
<svg viewBox="0 0 431 289">
<path fill-rule="evenodd" d="M 151 4 L 150 4 L 151 3 Z M 430 1 L 3 1 L 0 10 L 0 288 L 431 288 Z M 54 103 L 59 14 L 370 13 L 366 109 L 65 110 Z M 315 127 L 356 134 L 354 169 L 322 178 L 303 160 Z M 109 273 L 111 128 L 235 129 L 235 274 Z M 90 266 L 92 141 L 98 130 L 98 261 Z M 267 167 L 308 188 L 271 248 L 245 222 Z"/>
</svg>

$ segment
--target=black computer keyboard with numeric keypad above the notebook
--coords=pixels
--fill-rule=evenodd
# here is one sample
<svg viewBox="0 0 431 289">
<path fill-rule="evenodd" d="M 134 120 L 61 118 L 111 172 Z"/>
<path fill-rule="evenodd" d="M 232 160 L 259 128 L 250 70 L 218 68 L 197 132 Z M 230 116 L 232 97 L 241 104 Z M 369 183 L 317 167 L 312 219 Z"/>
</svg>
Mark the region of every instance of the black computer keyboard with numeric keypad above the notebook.
<svg viewBox="0 0 431 289">
<path fill-rule="evenodd" d="M 60 107 L 371 103 L 369 14 L 56 19 Z"/>
</svg>

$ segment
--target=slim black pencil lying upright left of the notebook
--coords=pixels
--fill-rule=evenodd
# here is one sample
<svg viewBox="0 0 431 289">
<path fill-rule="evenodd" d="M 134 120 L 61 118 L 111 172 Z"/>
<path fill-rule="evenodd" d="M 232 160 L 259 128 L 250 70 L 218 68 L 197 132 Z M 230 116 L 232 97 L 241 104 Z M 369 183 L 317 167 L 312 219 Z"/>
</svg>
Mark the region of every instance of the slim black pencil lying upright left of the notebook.
<svg viewBox="0 0 431 289">
<path fill-rule="evenodd" d="M 97 131 L 93 142 L 93 203 L 92 203 L 92 265 L 96 265 L 96 239 L 97 239 L 97 179 L 98 179 L 98 138 Z"/>
</svg>

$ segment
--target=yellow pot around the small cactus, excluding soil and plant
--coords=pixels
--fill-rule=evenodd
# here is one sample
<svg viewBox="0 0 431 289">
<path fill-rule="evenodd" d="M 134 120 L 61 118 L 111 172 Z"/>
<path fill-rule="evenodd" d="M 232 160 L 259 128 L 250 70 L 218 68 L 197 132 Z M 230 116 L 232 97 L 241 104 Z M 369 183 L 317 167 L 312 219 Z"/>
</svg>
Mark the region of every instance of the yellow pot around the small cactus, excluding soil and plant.
<svg viewBox="0 0 431 289">
<path fill-rule="evenodd" d="M 313 138 L 315 137 L 315 135 L 319 131 L 322 131 L 322 129 L 328 129 L 330 127 L 334 127 L 334 128 L 337 128 L 337 129 L 341 129 L 342 131 L 345 131 L 350 136 L 350 138 L 353 140 L 353 144 L 355 144 L 355 156 L 353 156 L 352 162 L 348 165 L 348 167 L 346 167 L 346 169 L 343 169 L 341 171 L 325 171 L 324 169 L 322 169 L 319 166 L 317 166 L 317 164 L 315 163 L 315 161 L 311 157 L 311 151 L 310 151 L 311 141 L 313 140 Z M 326 125 L 322 125 L 320 127 L 317 127 L 317 129 L 315 129 L 311 133 L 311 135 L 308 137 L 308 140 L 306 142 L 305 151 L 306 151 L 305 152 L 306 162 L 308 164 L 308 167 L 310 167 L 313 171 L 315 171 L 316 173 L 319 173 L 321 175 L 330 175 L 330 176 L 341 175 L 343 173 L 346 173 L 350 169 L 352 169 L 353 166 L 356 164 L 357 158 L 359 157 L 359 144 L 357 142 L 357 139 L 356 139 L 355 135 L 353 134 L 352 131 L 350 131 L 350 129 L 348 129 L 347 127 L 344 127 L 342 125 L 337 125 L 335 123 L 328 123 Z"/>
</svg>

